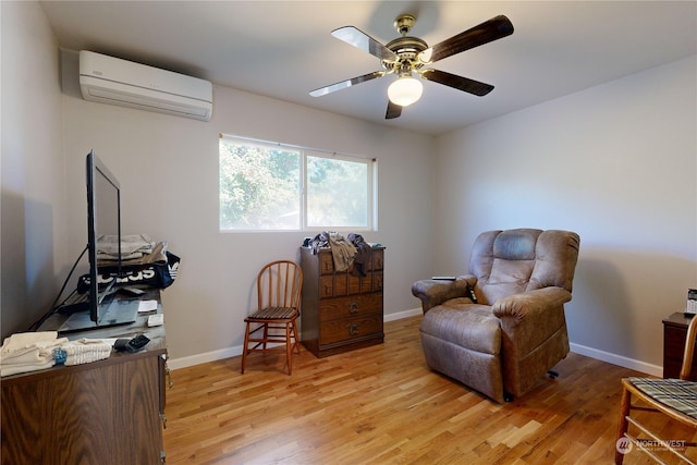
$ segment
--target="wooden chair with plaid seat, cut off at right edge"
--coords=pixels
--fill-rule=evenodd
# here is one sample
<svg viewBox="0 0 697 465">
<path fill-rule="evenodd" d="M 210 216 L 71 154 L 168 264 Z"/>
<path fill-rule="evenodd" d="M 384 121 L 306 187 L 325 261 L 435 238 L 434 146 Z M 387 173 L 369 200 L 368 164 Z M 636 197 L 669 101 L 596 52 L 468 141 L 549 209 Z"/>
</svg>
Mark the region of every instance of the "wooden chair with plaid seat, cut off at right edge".
<svg viewBox="0 0 697 465">
<path fill-rule="evenodd" d="M 697 335 L 697 317 L 693 317 L 687 327 L 680 379 L 624 378 L 622 380 L 622 401 L 614 455 L 615 464 L 621 464 L 624 455 L 634 446 L 647 453 L 656 462 L 665 463 L 651 450 L 652 448 L 646 446 L 646 439 L 639 439 L 638 435 L 634 437 L 627 432 L 629 424 L 648 436 L 650 438 L 648 441 L 655 441 L 651 443 L 657 444 L 661 450 L 670 451 L 685 463 L 695 463 L 680 449 L 683 449 L 683 446 L 696 446 L 696 442 L 676 440 L 675 438 L 660 438 L 655 431 L 640 424 L 636 417 L 631 416 L 632 411 L 657 412 L 668 415 L 684 425 L 686 430 L 692 431 L 687 439 L 690 439 L 697 432 L 697 382 L 688 380 L 695 352 L 695 335 Z M 640 401 L 640 405 L 633 404 L 632 396 Z"/>
</svg>

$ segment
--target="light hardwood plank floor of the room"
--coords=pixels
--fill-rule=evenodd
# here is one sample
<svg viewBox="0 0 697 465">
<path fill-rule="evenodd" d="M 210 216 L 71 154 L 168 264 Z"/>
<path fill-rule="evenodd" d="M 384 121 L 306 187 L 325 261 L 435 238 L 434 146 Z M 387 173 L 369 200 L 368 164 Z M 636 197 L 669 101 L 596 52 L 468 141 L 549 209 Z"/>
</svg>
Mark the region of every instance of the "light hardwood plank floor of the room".
<svg viewBox="0 0 697 465">
<path fill-rule="evenodd" d="M 167 463 L 613 463 L 620 379 L 641 374 L 570 354 L 558 379 L 501 405 L 428 368 L 420 320 L 386 323 L 381 345 L 326 358 L 303 350 L 292 376 L 283 359 L 260 354 L 244 375 L 241 357 L 174 370 Z M 656 425 L 686 439 L 671 423 Z M 625 464 L 644 463 L 626 455 Z"/>
</svg>

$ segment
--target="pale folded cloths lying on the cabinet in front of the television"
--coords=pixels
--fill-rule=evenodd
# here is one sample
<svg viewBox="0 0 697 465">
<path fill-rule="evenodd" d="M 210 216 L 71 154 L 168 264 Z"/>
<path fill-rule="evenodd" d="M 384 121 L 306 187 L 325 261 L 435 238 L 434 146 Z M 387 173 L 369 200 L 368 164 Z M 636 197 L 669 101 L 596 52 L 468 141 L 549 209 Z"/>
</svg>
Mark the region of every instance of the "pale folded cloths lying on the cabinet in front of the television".
<svg viewBox="0 0 697 465">
<path fill-rule="evenodd" d="M 111 355 L 112 346 L 100 339 L 69 341 L 57 331 L 12 334 L 0 347 L 0 376 L 50 368 L 56 364 L 82 365 Z"/>
</svg>

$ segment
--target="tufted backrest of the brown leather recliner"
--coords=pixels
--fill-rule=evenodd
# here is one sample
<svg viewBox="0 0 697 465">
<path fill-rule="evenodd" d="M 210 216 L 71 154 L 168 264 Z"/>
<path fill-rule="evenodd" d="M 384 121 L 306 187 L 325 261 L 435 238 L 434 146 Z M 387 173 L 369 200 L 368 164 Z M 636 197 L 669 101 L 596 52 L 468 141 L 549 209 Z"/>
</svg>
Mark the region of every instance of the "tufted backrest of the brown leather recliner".
<svg viewBox="0 0 697 465">
<path fill-rule="evenodd" d="M 481 233 L 469 259 L 479 303 L 492 305 L 501 297 L 547 286 L 571 292 L 579 242 L 578 234 L 560 230 Z"/>
</svg>

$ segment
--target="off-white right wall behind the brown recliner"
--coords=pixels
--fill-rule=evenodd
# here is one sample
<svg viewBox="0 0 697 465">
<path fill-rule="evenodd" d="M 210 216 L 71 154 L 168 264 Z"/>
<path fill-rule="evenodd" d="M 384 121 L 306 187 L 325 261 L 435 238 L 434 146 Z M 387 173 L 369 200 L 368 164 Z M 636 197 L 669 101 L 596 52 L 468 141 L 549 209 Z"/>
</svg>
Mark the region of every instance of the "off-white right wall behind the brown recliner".
<svg viewBox="0 0 697 465">
<path fill-rule="evenodd" d="M 695 57 L 438 139 L 436 267 L 463 272 L 475 236 L 580 235 L 574 350 L 661 374 L 661 320 L 697 286 Z"/>
</svg>

